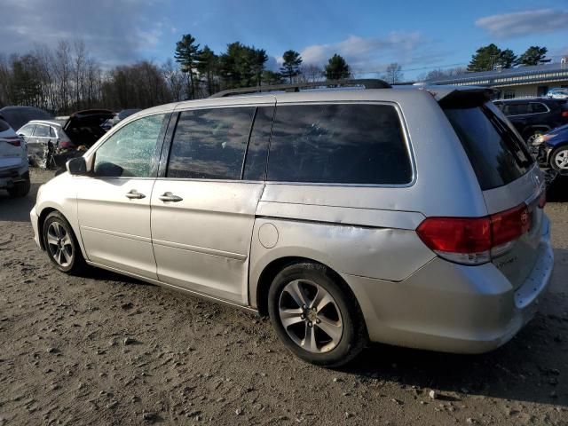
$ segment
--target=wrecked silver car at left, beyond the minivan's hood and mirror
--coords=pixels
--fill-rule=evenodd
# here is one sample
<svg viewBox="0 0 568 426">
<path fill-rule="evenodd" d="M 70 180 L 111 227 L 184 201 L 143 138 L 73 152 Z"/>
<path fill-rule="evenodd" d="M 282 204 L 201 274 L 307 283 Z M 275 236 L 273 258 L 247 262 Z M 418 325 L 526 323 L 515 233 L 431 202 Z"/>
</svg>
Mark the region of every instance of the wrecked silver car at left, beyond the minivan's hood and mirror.
<svg viewBox="0 0 568 426">
<path fill-rule="evenodd" d="M 28 158 L 31 164 L 44 168 L 63 166 L 64 159 L 56 162 L 57 156 L 76 146 L 56 120 L 32 120 L 18 130 L 28 144 Z"/>
</svg>

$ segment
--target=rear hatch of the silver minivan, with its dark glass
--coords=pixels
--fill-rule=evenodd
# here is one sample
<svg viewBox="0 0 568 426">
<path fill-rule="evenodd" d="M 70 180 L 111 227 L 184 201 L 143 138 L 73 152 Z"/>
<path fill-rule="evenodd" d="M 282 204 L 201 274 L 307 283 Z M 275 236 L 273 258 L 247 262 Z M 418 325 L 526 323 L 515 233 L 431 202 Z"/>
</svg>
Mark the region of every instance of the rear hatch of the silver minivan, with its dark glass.
<svg viewBox="0 0 568 426">
<path fill-rule="evenodd" d="M 517 130 L 487 95 L 456 91 L 439 103 L 469 157 L 492 224 L 514 222 L 518 231 L 491 250 L 493 264 L 517 289 L 539 256 L 544 178 Z M 492 233 L 494 238 L 494 228 Z"/>
</svg>

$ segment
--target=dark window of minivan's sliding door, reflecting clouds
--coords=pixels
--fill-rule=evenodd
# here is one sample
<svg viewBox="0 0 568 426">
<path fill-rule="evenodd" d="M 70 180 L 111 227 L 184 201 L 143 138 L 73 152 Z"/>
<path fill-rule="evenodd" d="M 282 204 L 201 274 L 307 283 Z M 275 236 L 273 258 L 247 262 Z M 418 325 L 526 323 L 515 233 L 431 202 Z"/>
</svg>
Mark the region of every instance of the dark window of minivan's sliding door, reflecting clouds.
<svg viewBox="0 0 568 426">
<path fill-rule="evenodd" d="M 254 112 L 254 106 L 182 112 L 167 177 L 241 179 Z"/>
</svg>

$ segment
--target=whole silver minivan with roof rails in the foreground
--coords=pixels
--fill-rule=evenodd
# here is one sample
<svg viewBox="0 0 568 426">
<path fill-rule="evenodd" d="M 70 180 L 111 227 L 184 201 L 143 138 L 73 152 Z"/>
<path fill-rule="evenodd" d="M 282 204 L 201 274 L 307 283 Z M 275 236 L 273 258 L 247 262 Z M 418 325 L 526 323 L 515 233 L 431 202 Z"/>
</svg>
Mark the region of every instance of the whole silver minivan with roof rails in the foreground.
<svg viewBox="0 0 568 426">
<path fill-rule="evenodd" d="M 134 114 L 39 189 L 36 243 L 269 315 L 317 365 L 491 351 L 552 272 L 540 170 L 490 91 L 379 87 Z"/>
</svg>

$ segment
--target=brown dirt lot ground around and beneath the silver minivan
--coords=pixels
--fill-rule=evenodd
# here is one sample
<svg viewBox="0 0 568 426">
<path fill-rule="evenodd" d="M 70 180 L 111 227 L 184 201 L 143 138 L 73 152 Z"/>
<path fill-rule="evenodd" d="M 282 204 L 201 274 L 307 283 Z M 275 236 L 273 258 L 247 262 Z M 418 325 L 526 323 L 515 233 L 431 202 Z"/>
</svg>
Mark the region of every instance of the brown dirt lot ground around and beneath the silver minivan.
<svg viewBox="0 0 568 426">
<path fill-rule="evenodd" d="M 483 356 L 376 344 L 332 371 L 289 355 L 266 319 L 55 272 L 28 217 L 51 175 L 32 176 L 28 198 L 0 194 L 0 425 L 568 424 L 568 203 L 548 204 L 553 283 L 513 341 Z"/>
</svg>

